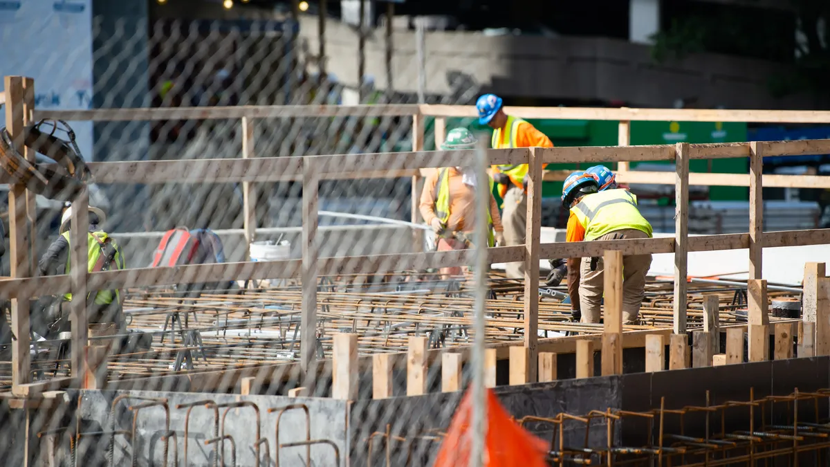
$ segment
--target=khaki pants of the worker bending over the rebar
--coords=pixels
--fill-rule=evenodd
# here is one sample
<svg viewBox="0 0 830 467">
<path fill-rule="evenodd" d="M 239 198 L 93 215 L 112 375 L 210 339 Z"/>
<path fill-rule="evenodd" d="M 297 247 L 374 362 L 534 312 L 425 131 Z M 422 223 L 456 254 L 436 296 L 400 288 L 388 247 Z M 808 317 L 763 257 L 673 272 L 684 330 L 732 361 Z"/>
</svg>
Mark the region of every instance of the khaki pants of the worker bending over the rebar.
<svg viewBox="0 0 830 467">
<path fill-rule="evenodd" d="M 622 229 L 603 235 L 598 240 L 617 238 L 648 238 L 648 234 L 637 229 Z M 646 274 L 652 266 L 651 254 L 623 256 L 623 323 L 637 322 L 642 298 L 645 297 Z M 597 269 L 591 271 L 591 258 L 582 258 L 579 264 L 579 307 L 582 322 L 599 322 L 599 307 L 603 301 L 604 288 L 603 258 L 599 258 Z"/>
</svg>

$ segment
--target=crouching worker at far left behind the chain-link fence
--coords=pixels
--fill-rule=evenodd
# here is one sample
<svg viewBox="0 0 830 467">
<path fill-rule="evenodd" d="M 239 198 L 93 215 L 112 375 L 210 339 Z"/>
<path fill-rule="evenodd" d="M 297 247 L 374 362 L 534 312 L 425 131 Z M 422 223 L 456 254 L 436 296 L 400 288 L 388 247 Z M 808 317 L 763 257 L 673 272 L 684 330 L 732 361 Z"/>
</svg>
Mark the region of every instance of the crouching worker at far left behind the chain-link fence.
<svg viewBox="0 0 830 467">
<path fill-rule="evenodd" d="M 100 225 L 104 224 L 106 215 L 101 209 L 90 206 L 89 234 L 89 260 L 87 269 L 90 273 L 97 271 L 109 271 L 113 269 L 124 269 L 124 256 L 115 239 L 111 238 Z M 60 235 L 51 243 L 46 253 L 43 254 L 37 264 L 41 276 L 52 274 L 68 274 L 71 269 L 70 255 L 70 220 L 72 207 L 68 207 L 61 217 Z M 61 332 L 68 330 L 68 307 L 66 304 L 73 299 L 71 293 L 66 293 L 57 303 L 55 311 L 50 317 L 52 321 L 51 330 Z M 89 322 L 90 337 L 114 336 L 123 330 L 124 317 L 121 311 L 123 297 L 118 290 L 90 291 L 86 300 L 87 321 Z M 106 345 L 105 342 L 97 342 L 96 345 Z"/>
</svg>

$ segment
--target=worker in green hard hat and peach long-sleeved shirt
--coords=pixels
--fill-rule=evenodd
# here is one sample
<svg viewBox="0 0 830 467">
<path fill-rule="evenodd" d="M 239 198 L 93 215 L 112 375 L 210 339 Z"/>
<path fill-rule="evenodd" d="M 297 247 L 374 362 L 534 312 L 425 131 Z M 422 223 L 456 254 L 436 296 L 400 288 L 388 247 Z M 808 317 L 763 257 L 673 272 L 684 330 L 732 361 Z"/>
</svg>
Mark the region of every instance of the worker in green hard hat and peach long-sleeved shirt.
<svg viewBox="0 0 830 467">
<path fill-rule="evenodd" d="M 466 128 L 455 128 L 447 133 L 442 150 L 470 150 L 476 147 L 476 137 Z M 489 177 L 488 177 L 489 178 Z M 432 226 L 437 237 L 437 250 L 450 251 L 469 248 L 471 232 L 476 227 L 476 179 L 474 170 L 468 167 L 443 167 L 427 176 L 421 193 L 421 216 Z M 491 180 L 481 180 L 491 183 Z M 490 227 L 488 246 L 503 245 L 504 229 L 501 227 L 496 199 L 490 194 L 487 223 Z M 495 230 L 495 234 L 493 231 Z M 445 277 L 461 274 L 460 267 L 442 268 Z"/>
</svg>

